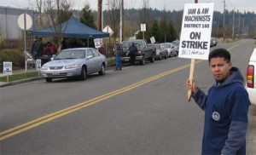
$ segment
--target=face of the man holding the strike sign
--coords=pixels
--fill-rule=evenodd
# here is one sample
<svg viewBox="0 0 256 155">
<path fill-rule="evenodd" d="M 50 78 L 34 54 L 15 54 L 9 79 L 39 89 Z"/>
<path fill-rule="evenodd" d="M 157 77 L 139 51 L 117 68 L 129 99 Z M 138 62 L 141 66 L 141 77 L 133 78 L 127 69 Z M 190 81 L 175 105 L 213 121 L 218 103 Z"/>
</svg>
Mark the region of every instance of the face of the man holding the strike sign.
<svg viewBox="0 0 256 155">
<path fill-rule="evenodd" d="M 232 63 L 226 62 L 223 57 L 217 57 L 210 60 L 210 67 L 216 82 L 222 83 L 226 78 L 230 76 Z"/>
</svg>

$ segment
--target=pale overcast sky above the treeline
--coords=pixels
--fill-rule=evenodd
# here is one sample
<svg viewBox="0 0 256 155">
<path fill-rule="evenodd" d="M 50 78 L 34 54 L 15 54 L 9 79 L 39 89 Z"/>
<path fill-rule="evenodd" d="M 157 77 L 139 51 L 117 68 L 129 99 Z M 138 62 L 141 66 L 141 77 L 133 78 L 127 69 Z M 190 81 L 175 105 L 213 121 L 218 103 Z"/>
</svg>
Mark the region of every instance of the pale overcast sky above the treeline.
<svg viewBox="0 0 256 155">
<path fill-rule="evenodd" d="M 0 6 L 9 6 L 14 8 L 32 8 L 31 3 L 36 0 L 0 0 Z M 90 3 L 90 8 L 97 8 L 97 0 L 70 0 L 73 1 L 74 9 L 81 9 L 84 3 L 87 1 Z M 102 0 L 103 9 L 107 9 L 108 1 Z M 183 9 L 184 3 L 195 3 L 195 0 L 148 0 L 150 8 L 156 9 L 166 9 L 166 10 L 180 10 Z M 140 8 L 142 6 L 143 0 L 124 0 L 125 8 Z M 224 10 L 224 0 L 198 0 L 198 3 L 214 3 L 214 10 L 223 12 Z M 256 13 L 256 0 L 225 0 L 226 9 L 238 9 L 240 12 L 251 11 Z"/>
</svg>

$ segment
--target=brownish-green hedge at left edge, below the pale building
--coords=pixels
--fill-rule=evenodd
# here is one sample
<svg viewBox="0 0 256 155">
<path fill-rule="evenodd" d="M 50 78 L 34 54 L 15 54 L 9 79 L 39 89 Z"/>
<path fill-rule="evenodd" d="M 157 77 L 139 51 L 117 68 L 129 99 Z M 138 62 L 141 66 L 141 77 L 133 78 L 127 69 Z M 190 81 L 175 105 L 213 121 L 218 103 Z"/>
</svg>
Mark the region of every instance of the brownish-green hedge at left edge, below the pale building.
<svg viewBox="0 0 256 155">
<path fill-rule="evenodd" d="M 24 55 L 22 55 L 19 49 L 1 49 L 0 61 L 11 61 L 13 66 L 24 66 L 25 64 Z"/>
</svg>

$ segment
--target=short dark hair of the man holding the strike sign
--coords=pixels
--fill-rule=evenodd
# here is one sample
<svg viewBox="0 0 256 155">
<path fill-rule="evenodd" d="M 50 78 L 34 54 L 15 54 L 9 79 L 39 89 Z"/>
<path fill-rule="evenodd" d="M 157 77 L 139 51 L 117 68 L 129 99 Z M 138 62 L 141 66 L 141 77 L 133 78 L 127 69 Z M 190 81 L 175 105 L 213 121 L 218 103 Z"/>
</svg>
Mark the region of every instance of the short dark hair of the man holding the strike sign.
<svg viewBox="0 0 256 155">
<path fill-rule="evenodd" d="M 226 62 L 230 62 L 231 55 L 227 49 L 214 49 L 208 56 L 209 63 L 212 58 L 224 58 Z"/>
</svg>

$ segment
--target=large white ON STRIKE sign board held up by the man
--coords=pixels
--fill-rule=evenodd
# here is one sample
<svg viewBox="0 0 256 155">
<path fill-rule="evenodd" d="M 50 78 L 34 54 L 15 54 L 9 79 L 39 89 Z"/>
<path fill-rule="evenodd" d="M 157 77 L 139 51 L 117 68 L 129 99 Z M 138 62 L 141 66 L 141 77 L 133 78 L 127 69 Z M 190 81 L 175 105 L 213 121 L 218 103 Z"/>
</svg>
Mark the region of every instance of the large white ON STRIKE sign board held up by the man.
<svg viewBox="0 0 256 155">
<path fill-rule="evenodd" d="M 178 57 L 208 60 L 213 3 L 185 3 Z"/>
</svg>

